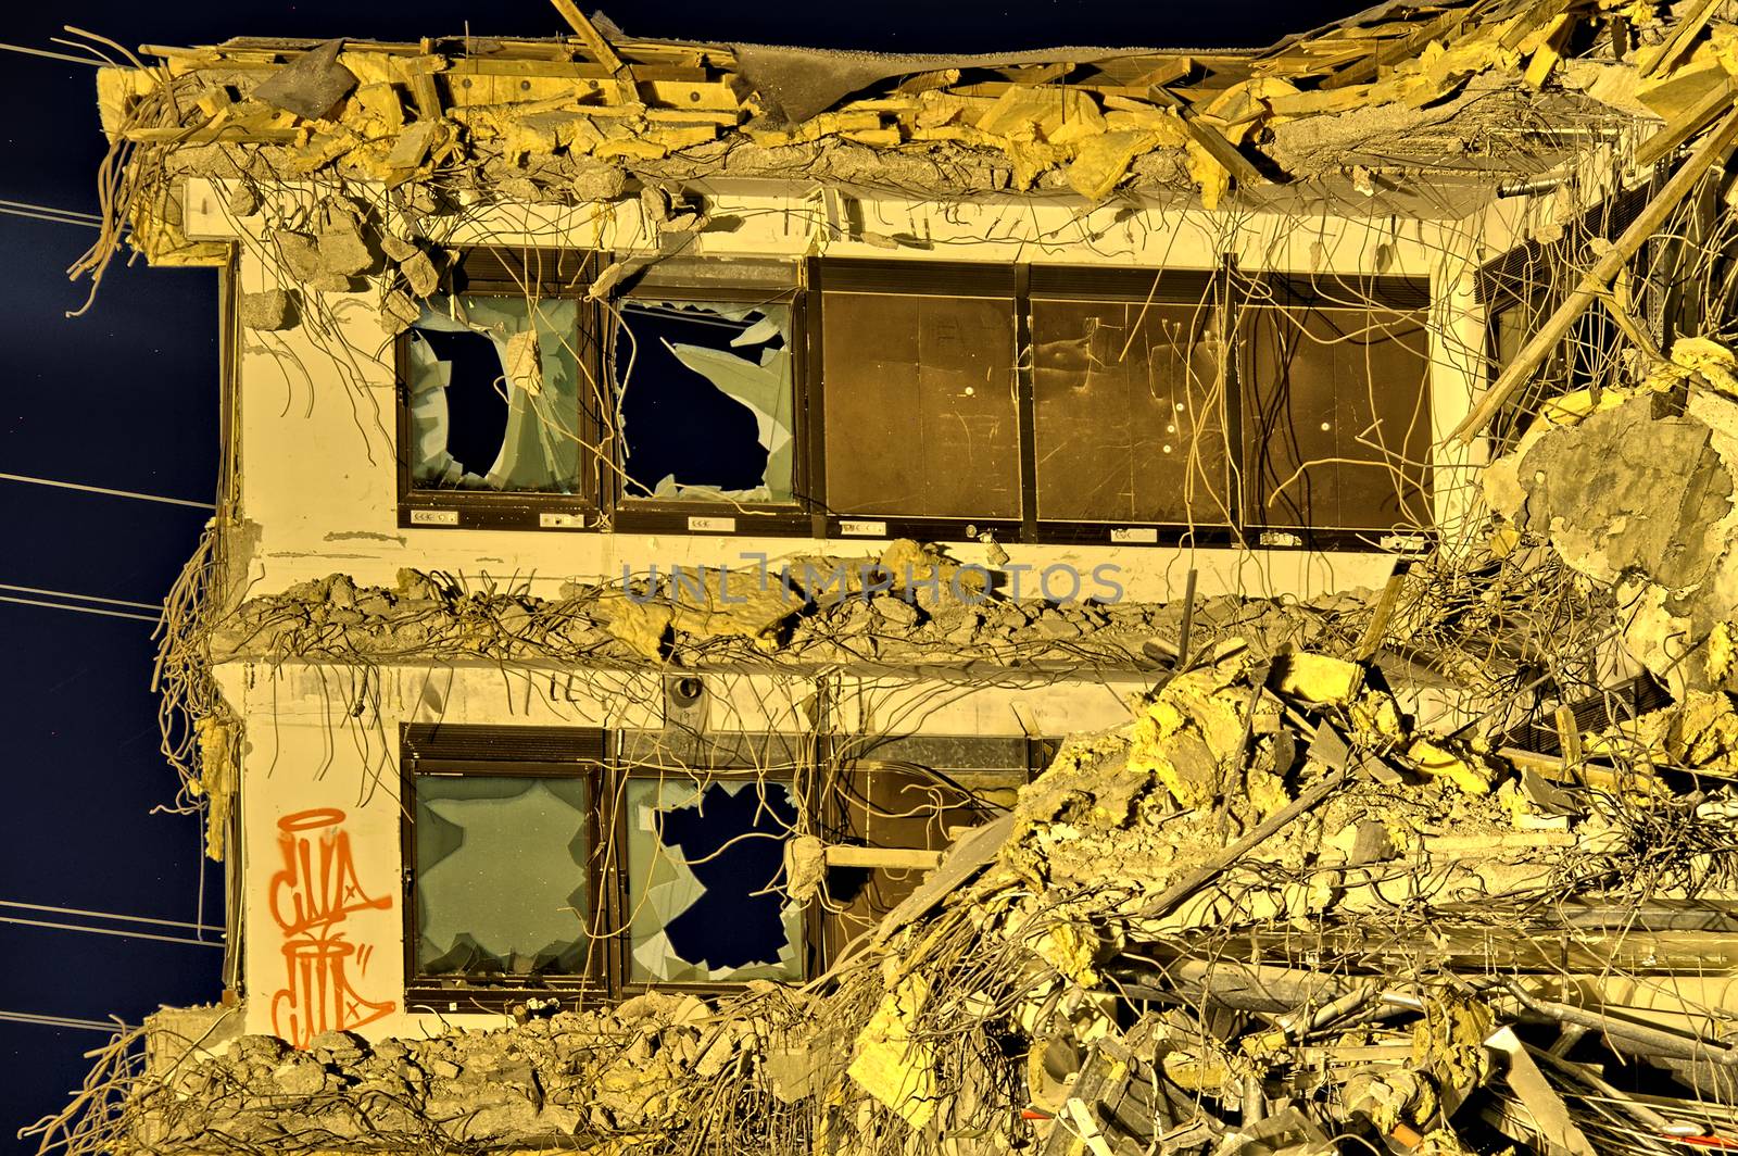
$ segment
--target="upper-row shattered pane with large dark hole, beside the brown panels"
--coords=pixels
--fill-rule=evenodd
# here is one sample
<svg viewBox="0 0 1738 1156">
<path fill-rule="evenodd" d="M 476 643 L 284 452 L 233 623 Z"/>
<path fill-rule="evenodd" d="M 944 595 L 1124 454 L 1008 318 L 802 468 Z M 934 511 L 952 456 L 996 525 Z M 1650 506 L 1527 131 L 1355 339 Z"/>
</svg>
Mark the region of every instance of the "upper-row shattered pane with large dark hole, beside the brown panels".
<svg viewBox="0 0 1738 1156">
<path fill-rule="evenodd" d="M 794 501 L 791 306 L 620 302 L 627 497 Z"/>
</svg>

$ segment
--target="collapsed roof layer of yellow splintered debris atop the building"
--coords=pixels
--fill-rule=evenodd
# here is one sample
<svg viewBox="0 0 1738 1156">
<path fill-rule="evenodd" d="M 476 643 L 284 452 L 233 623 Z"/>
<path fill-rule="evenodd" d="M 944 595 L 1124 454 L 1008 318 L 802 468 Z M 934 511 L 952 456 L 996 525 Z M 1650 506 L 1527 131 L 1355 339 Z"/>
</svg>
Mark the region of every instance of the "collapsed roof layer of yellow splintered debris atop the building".
<svg viewBox="0 0 1738 1156">
<path fill-rule="evenodd" d="M 1324 181 L 1463 216 L 1625 125 L 1672 122 L 1644 149 L 1682 141 L 1729 50 L 1721 28 L 1702 40 L 1710 5 L 1674 24 L 1613 0 L 1385 3 L 1265 50 L 994 56 L 638 40 L 558 7 L 574 37 L 148 47 L 162 64 L 104 71 L 103 123 L 139 184 L 337 176 L 572 203 L 631 177 L 779 177 L 1213 207 Z"/>
</svg>

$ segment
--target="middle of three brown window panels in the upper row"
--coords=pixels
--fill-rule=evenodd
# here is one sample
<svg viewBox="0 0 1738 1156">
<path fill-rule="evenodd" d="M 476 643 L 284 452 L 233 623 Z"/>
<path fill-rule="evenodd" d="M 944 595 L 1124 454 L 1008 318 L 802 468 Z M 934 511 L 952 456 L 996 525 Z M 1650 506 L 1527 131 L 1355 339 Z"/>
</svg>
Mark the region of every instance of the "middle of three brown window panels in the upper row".
<svg viewBox="0 0 1738 1156">
<path fill-rule="evenodd" d="M 1088 285 L 1032 289 L 1045 522 L 1231 522 L 1211 278 L 1145 280 L 1145 292 L 1112 299 Z"/>
</svg>

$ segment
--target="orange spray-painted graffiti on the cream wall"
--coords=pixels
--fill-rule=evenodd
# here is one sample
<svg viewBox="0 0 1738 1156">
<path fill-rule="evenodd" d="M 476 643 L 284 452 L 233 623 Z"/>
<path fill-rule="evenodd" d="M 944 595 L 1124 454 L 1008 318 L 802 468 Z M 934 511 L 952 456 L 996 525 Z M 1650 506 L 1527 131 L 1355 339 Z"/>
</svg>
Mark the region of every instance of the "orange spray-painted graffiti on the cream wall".
<svg viewBox="0 0 1738 1156">
<path fill-rule="evenodd" d="M 374 947 L 349 940 L 344 927 L 358 911 L 391 909 L 393 897 L 370 899 L 362 888 L 335 807 L 280 819 L 278 848 L 283 867 L 271 876 L 271 918 L 283 933 L 283 987 L 271 998 L 271 1029 L 306 1048 L 323 1031 L 362 1027 L 396 1007 L 351 987 Z"/>
</svg>

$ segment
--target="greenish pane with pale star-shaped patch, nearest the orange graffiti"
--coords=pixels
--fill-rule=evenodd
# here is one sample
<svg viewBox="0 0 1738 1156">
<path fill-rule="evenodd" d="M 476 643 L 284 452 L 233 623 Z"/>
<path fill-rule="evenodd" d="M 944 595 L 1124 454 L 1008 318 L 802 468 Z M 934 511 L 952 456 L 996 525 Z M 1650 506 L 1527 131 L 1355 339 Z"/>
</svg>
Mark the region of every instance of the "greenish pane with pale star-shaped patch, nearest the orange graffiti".
<svg viewBox="0 0 1738 1156">
<path fill-rule="evenodd" d="M 419 973 L 584 972 L 587 807 L 584 779 L 419 775 Z"/>
</svg>

